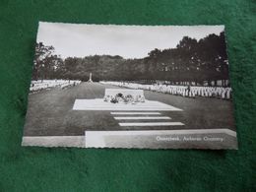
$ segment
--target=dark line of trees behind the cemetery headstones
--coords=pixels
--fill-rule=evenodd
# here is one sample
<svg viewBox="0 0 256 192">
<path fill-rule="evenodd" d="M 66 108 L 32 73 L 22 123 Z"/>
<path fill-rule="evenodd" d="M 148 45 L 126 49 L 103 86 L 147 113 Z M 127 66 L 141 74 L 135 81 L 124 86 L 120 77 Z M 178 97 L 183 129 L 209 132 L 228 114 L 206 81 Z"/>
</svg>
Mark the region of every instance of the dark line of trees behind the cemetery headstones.
<svg viewBox="0 0 256 192">
<path fill-rule="evenodd" d="M 86 53 L 85 53 L 86 54 Z M 172 84 L 217 82 L 228 79 L 224 32 L 199 40 L 184 36 L 175 48 L 154 49 L 147 57 L 125 59 L 119 55 L 90 55 L 62 59 L 54 47 L 38 42 L 32 80 L 168 81 Z M 225 82 L 225 81 L 224 81 Z M 225 86 L 225 85 L 224 85 Z"/>
</svg>

